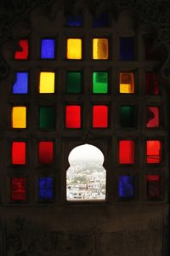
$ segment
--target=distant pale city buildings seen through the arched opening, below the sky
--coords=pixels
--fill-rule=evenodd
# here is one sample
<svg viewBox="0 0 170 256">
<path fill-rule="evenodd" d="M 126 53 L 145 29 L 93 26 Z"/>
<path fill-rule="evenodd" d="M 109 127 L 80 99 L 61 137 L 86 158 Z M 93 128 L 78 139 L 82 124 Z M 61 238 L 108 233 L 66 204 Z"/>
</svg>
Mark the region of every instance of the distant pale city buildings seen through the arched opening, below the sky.
<svg viewBox="0 0 170 256">
<path fill-rule="evenodd" d="M 75 164 L 67 170 L 67 200 L 97 201 L 105 200 L 106 172 L 101 164 Z"/>
</svg>

